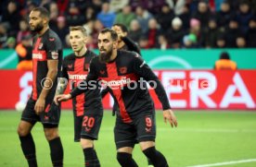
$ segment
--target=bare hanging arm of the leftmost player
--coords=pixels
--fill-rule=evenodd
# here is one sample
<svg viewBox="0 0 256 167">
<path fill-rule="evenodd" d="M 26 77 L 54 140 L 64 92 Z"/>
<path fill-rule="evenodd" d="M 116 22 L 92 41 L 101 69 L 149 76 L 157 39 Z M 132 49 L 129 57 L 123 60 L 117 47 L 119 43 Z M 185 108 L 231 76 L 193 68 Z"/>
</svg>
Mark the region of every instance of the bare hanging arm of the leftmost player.
<svg viewBox="0 0 256 167">
<path fill-rule="evenodd" d="M 45 110 L 45 98 L 50 91 L 58 74 L 58 60 L 47 60 L 48 72 L 44 82 L 44 88 L 42 89 L 38 100 L 35 103 L 35 112 L 41 113 Z"/>
</svg>

